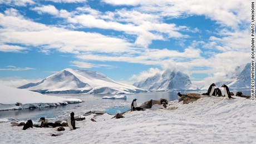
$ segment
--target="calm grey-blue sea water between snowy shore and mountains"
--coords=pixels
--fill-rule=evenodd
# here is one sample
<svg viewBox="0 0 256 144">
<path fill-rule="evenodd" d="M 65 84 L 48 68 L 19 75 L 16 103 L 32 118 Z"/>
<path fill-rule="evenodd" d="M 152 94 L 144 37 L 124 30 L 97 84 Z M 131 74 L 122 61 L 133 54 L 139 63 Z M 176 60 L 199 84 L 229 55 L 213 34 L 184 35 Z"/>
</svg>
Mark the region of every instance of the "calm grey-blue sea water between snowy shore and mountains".
<svg viewBox="0 0 256 144">
<path fill-rule="evenodd" d="M 125 112 L 130 109 L 131 102 L 137 98 L 137 104 L 141 105 L 145 101 L 159 100 L 166 98 L 168 101 L 178 98 L 177 92 L 147 92 L 136 93 L 127 96 L 126 100 L 102 99 L 104 96 L 114 95 L 82 95 L 82 94 L 66 94 L 66 95 L 51 95 L 65 98 L 79 98 L 85 102 L 74 103 L 67 106 L 58 106 L 50 108 L 35 108 L 29 110 L 16 111 L 0 111 L 0 118 L 14 118 L 17 121 L 34 120 L 37 121 L 40 117 L 47 117 L 52 121 L 63 120 L 68 114 L 75 112 L 75 116 L 83 115 L 88 111 L 105 111 L 115 115 L 117 112 Z"/>
</svg>

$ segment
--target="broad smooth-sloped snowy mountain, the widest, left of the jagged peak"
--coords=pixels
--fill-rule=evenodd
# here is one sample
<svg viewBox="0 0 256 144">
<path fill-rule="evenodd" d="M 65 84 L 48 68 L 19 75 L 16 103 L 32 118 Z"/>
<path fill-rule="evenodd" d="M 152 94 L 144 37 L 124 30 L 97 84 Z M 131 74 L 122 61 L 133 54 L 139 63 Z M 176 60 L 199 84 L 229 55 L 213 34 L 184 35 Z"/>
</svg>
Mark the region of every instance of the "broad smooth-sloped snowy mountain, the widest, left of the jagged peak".
<svg viewBox="0 0 256 144">
<path fill-rule="evenodd" d="M 41 93 L 120 94 L 145 91 L 135 86 L 115 82 L 96 71 L 71 68 L 63 69 L 40 82 L 28 83 L 18 88 Z"/>
</svg>

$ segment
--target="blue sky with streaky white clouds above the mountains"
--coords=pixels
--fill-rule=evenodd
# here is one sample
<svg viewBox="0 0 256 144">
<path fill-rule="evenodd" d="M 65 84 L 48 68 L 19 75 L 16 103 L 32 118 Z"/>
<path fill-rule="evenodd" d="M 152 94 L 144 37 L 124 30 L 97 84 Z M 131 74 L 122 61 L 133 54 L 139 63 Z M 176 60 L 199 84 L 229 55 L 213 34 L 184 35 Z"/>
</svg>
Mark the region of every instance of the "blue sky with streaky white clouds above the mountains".
<svg viewBox="0 0 256 144">
<path fill-rule="evenodd" d="M 250 1 L 0 0 L 0 84 L 65 68 L 134 83 L 165 69 L 198 87 L 250 62 Z"/>
</svg>

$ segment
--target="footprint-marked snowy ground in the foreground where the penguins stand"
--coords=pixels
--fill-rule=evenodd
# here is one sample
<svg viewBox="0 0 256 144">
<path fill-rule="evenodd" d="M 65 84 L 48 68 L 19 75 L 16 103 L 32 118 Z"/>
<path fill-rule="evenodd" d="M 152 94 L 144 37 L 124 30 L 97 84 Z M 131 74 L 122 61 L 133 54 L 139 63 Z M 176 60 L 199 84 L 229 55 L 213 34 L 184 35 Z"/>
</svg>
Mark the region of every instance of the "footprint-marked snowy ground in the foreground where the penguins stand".
<svg viewBox="0 0 256 144">
<path fill-rule="evenodd" d="M 0 143 L 255 143 L 255 102 L 236 97 L 202 97 L 183 105 L 171 101 L 166 109 L 127 112 L 125 118 L 104 114 L 77 122 L 76 130 L 30 128 L 0 123 Z M 76 113 L 75 113 L 75 116 Z M 52 134 L 59 135 L 51 137 Z"/>
</svg>

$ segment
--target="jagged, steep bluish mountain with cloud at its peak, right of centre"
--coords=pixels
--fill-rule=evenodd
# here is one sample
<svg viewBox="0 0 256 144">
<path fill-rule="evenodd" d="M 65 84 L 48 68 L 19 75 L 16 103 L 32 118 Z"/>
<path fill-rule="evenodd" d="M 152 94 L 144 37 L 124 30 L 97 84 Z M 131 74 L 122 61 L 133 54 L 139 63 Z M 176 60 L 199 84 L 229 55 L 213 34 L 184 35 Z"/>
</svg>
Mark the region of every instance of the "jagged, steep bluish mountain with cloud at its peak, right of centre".
<svg viewBox="0 0 256 144">
<path fill-rule="evenodd" d="M 166 70 L 164 73 L 157 73 L 146 80 L 134 83 L 134 86 L 151 91 L 183 91 L 198 90 L 192 85 L 188 75 L 182 72 Z"/>
</svg>

